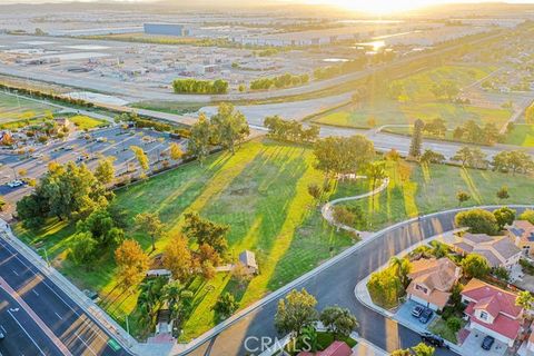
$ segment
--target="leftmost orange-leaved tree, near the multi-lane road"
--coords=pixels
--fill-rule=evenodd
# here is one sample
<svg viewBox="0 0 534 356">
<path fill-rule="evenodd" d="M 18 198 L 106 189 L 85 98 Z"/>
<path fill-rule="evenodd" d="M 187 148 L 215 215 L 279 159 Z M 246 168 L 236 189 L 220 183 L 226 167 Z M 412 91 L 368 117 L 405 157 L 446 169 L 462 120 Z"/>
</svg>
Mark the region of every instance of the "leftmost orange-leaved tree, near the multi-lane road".
<svg viewBox="0 0 534 356">
<path fill-rule="evenodd" d="M 118 277 L 125 290 L 139 284 L 150 266 L 150 258 L 136 240 L 125 240 L 115 250 Z"/>
</svg>

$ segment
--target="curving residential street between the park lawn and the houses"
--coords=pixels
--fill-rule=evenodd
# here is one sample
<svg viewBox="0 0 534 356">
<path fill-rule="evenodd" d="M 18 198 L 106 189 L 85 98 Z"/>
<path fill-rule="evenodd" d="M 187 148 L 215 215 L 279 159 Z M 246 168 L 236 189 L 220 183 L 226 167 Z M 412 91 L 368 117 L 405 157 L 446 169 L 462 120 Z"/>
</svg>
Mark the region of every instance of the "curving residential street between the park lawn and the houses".
<svg viewBox="0 0 534 356">
<path fill-rule="evenodd" d="M 313 294 L 318 300 L 319 309 L 336 304 L 349 308 L 359 320 L 360 335 L 388 352 L 414 346 L 421 342 L 419 335 L 359 304 L 354 289 L 359 280 L 386 264 L 392 256 L 425 238 L 454 229 L 455 214 L 455 211 L 442 212 L 423 217 L 421 221 L 406 221 L 383 230 L 378 233 L 376 239 L 303 281 L 297 288 L 304 287 Z M 247 353 L 245 345 L 248 345 L 250 350 L 258 346 L 257 338 L 277 336 L 274 328 L 276 306 L 277 299 L 266 304 L 189 355 L 245 355 Z M 454 353 L 438 349 L 436 355 Z"/>
</svg>

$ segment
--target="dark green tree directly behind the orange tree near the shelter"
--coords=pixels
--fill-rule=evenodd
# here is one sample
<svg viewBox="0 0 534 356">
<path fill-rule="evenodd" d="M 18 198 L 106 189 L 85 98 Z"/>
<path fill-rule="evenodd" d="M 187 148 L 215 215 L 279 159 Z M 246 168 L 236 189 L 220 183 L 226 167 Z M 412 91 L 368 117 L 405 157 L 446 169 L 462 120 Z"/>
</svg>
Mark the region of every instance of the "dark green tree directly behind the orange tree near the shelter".
<svg viewBox="0 0 534 356">
<path fill-rule="evenodd" d="M 226 234 L 229 229 L 228 225 L 204 219 L 197 212 L 188 212 L 185 215 L 182 233 L 198 245 L 208 244 L 222 256 L 228 248 Z"/>
</svg>

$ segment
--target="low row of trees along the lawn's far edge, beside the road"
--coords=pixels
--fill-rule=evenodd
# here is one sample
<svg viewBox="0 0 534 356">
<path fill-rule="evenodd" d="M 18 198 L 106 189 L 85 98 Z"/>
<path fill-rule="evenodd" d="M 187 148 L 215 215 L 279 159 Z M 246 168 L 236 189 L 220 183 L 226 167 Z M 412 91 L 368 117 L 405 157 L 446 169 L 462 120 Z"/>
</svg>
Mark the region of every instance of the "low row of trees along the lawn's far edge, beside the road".
<svg viewBox="0 0 534 356">
<path fill-rule="evenodd" d="M 268 136 L 284 141 L 310 144 L 319 137 L 319 127 L 312 125 L 309 128 L 303 128 L 303 123 L 296 120 L 284 120 L 278 115 L 266 117 L 265 127 L 269 129 Z"/>
</svg>

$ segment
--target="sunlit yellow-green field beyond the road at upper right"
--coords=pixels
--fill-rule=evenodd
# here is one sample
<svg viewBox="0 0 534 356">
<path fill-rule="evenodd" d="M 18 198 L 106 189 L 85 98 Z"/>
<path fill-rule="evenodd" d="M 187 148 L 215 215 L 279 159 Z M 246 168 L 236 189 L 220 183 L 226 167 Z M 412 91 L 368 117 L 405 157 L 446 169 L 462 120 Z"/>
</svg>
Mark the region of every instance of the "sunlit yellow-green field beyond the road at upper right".
<svg viewBox="0 0 534 356">
<path fill-rule="evenodd" d="M 437 100 L 429 88 L 435 82 L 453 80 L 458 87 L 464 87 L 484 78 L 492 68 L 469 68 L 443 66 L 435 70 L 416 73 L 398 80 L 404 88 L 403 100 L 393 100 L 385 93 L 370 95 L 367 100 L 354 105 L 349 109 L 330 112 L 313 119 L 314 122 L 356 128 L 368 128 L 369 118 L 374 118 L 377 126 L 413 123 L 416 119 L 425 121 L 437 117 L 447 121 L 449 128 L 467 121 L 479 123 L 495 122 L 501 127 L 510 118 L 506 109 L 483 108 L 469 105 L 457 105 L 447 100 Z"/>
</svg>

